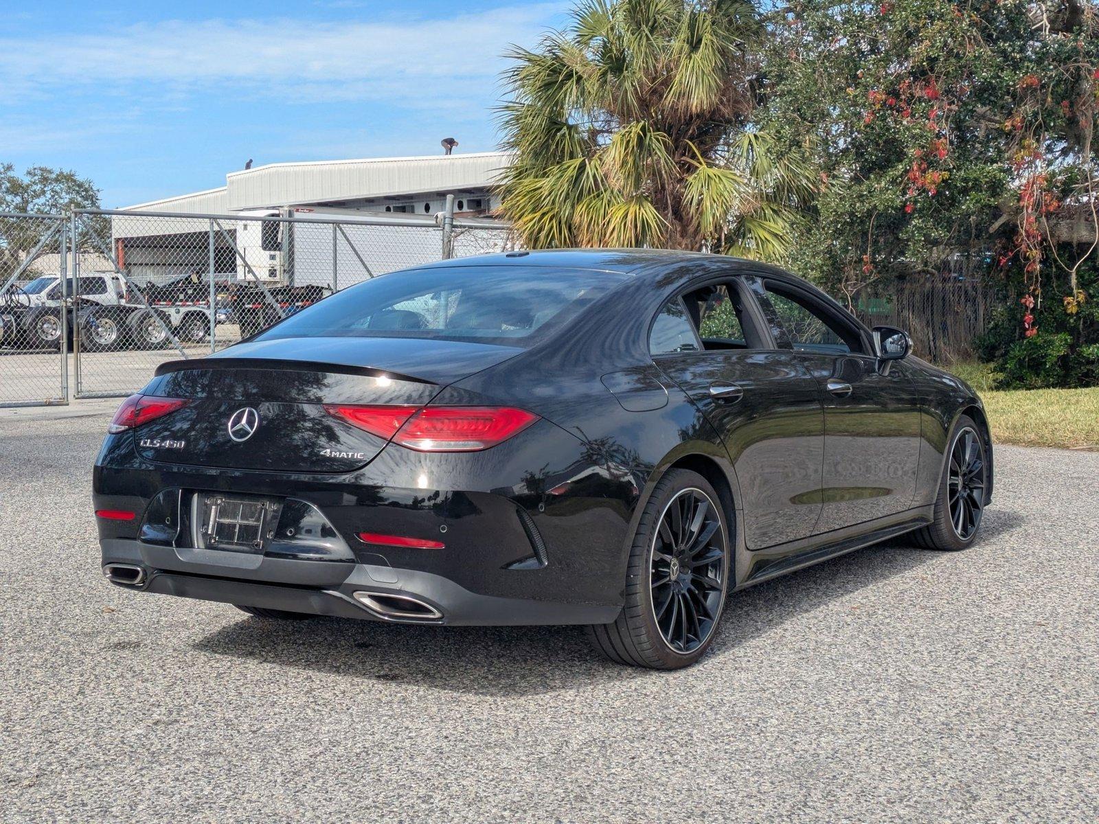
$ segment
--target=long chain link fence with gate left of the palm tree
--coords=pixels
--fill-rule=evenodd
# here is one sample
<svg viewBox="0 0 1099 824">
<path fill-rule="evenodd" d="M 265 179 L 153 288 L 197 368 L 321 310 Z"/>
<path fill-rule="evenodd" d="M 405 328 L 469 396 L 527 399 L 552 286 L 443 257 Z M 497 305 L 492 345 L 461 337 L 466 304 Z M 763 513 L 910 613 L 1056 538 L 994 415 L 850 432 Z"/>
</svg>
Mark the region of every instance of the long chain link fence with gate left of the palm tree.
<svg viewBox="0 0 1099 824">
<path fill-rule="evenodd" d="M 515 247 L 449 215 L 0 215 L 0 405 L 129 394 L 363 280 Z"/>
</svg>

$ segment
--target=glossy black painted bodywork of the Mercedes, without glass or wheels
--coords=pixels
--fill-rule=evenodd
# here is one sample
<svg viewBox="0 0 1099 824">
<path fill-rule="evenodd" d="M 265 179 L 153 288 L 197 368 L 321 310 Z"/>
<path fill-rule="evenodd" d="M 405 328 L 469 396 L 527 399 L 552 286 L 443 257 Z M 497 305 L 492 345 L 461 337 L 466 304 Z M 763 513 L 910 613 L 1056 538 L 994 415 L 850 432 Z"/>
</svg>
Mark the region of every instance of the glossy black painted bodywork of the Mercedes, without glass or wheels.
<svg viewBox="0 0 1099 824">
<path fill-rule="evenodd" d="M 925 523 L 953 421 L 963 410 L 983 420 L 968 387 L 914 357 L 888 365 L 868 356 L 818 358 L 795 353 L 779 336 L 767 350 L 650 355 L 650 323 L 670 297 L 715 277 L 765 272 L 800 283 L 779 270 L 664 252 L 550 252 L 520 260 L 632 278 L 528 349 L 276 339 L 166 365 L 146 391 L 196 402 L 142 427 L 137 439 L 186 436 L 197 439 L 196 450 L 180 459 L 137 447 L 133 433 L 108 436 L 93 476 L 96 506 L 143 512 L 169 488 L 296 498 L 324 513 L 371 575 L 385 578 L 384 570 L 392 570 L 388 583 L 374 578 L 379 586 L 399 591 L 414 586 L 418 574 L 431 574 L 477 597 L 515 599 L 515 610 L 531 610 L 525 619 L 503 614 L 497 623 L 571 620 L 567 612 L 540 612 L 532 606 L 537 603 L 574 604 L 578 621 L 592 614 L 580 606 L 606 608 L 611 620 L 622 603 L 633 527 L 670 467 L 709 467 L 719 492 L 724 488 L 736 544 L 731 583 L 746 586 Z M 836 376 L 855 390 L 843 401 L 823 388 Z M 711 383 L 730 380 L 744 389 L 741 400 L 709 396 Z M 429 455 L 382 448 L 380 438 L 325 416 L 323 402 L 502 404 L 542 420 L 481 453 Z M 247 404 L 259 404 L 269 424 L 269 441 L 254 442 L 264 448 L 253 455 L 234 453 L 221 435 L 229 414 Z M 318 441 L 370 458 L 324 463 L 310 452 Z M 544 567 L 528 563 L 533 547 L 520 509 L 544 541 Z M 115 539 L 136 544 L 140 525 L 100 522 L 104 557 L 108 546 L 121 546 Z M 354 537 L 364 530 L 446 546 L 368 546 Z M 217 569 L 210 557 L 198 564 L 180 552 L 158 550 L 156 563 L 173 574 Z M 304 575 L 290 563 L 260 559 L 226 577 Z M 323 575 L 308 574 L 309 586 L 351 580 L 347 565 L 325 566 Z"/>
</svg>

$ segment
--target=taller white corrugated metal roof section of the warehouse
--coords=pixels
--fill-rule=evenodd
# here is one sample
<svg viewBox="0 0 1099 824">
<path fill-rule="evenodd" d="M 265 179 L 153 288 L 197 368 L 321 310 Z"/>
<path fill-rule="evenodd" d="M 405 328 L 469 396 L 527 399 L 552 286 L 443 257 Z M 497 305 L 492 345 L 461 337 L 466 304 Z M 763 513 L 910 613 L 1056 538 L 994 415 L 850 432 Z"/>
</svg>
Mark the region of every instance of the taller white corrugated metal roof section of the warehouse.
<svg viewBox="0 0 1099 824">
<path fill-rule="evenodd" d="M 503 152 L 276 163 L 226 175 L 226 205 L 236 211 L 482 188 L 492 185 L 509 163 Z"/>
</svg>

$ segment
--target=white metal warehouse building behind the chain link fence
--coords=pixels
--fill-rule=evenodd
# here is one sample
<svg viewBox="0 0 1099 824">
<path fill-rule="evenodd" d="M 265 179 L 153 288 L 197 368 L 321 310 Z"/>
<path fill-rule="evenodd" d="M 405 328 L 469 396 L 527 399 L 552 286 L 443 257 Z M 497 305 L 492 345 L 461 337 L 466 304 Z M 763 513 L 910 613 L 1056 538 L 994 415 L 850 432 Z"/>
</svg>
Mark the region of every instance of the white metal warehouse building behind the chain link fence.
<svg viewBox="0 0 1099 824">
<path fill-rule="evenodd" d="M 246 168 L 218 189 L 126 207 L 135 214 L 112 218 L 112 252 L 140 282 L 206 272 L 211 259 L 217 274 L 237 279 L 360 279 L 439 259 L 447 196 L 465 226 L 456 254 L 501 250 L 510 240 L 495 218 L 493 183 L 508 163 L 506 153 L 482 152 Z"/>
</svg>

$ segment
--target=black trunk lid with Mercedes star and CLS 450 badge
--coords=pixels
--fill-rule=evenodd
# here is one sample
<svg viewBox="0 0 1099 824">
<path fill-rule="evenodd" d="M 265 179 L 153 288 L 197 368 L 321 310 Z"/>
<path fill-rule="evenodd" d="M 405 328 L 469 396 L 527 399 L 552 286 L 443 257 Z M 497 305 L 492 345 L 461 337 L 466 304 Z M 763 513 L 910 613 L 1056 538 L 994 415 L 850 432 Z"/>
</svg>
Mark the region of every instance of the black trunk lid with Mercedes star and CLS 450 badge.
<svg viewBox="0 0 1099 824">
<path fill-rule="evenodd" d="M 379 342 L 385 345 L 371 346 Z M 232 355 L 162 365 L 145 394 L 191 403 L 135 430 L 138 454 L 225 469 L 353 471 L 388 442 L 329 414 L 324 404 L 423 407 L 447 383 L 521 352 L 436 341 L 321 338 L 328 345 L 319 348 L 315 343 L 242 344 Z"/>
</svg>

